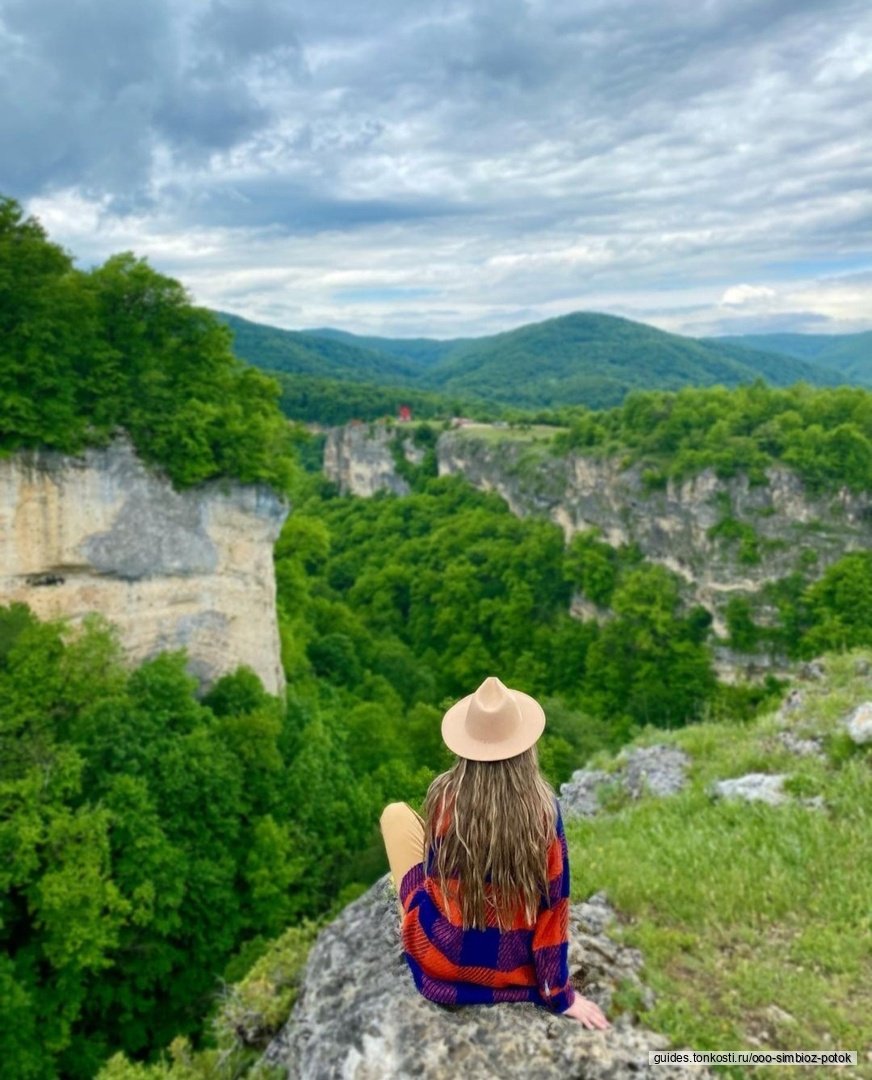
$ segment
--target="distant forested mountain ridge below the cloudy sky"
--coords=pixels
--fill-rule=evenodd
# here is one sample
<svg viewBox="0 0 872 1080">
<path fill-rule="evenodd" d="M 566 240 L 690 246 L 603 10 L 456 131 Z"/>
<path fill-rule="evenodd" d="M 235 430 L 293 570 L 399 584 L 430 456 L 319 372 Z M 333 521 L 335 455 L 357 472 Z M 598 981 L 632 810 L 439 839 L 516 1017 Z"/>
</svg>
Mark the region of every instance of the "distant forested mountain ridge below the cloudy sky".
<svg viewBox="0 0 872 1080">
<path fill-rule="evenodd" d="M 292 378 L 414 387 L 519 408 L 606 408 L 635 388 L 733 387 L 757 377 L 772 386 L 843 381 L 832 368 L 784 353 L 732 340 L 700 341 L 588 312 L 452 341 L 362 337 L 328 328 L 281 330 L 219 316 L 233 329 L 243 360 Z"/>
</svg>

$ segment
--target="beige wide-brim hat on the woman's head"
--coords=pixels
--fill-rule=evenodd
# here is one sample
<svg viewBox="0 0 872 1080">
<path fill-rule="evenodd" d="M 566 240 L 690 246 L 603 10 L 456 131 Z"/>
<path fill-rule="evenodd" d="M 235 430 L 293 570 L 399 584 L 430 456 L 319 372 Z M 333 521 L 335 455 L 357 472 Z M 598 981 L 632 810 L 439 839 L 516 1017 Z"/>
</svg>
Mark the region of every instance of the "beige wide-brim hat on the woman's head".
<svg viewBox="0 0 872 1080">
<path fill-rule="evenodd" d="M 511 690 L 492 675 L 442 717 L 448 750 L 473 761 L 499 761 L 523 754 L 545 730 L 545 710 L 528 693 Z"/>
</svg>

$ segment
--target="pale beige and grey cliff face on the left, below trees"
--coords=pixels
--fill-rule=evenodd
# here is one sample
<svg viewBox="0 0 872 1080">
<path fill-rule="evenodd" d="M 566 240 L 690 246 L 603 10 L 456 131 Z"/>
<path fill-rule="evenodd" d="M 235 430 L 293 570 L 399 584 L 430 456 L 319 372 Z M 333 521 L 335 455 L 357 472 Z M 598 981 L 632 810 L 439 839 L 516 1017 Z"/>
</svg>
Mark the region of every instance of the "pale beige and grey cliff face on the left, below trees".
<svg viewBox="0 0 872 1080">
<path fill-rule="evenodd" d="M 175 491 L 126 435 L 19 451 L 0 459 L 0 604 L 73 623 L 99 611 L 131 662 L 186 646 L 201 688 L 244 663 L 280 693 L 272 546 L 289 509 L 265 485 Z"/>
</svg>

